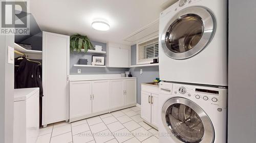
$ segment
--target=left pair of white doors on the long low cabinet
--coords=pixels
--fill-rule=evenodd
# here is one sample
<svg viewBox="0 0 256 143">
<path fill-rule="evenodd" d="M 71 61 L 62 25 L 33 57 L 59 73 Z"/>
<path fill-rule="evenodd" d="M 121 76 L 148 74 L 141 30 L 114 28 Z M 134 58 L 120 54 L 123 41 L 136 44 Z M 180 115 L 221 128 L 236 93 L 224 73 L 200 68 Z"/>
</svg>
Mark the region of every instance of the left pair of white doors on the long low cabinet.
<svg viewBox="0 0 256 143">
<path fill-rule="evenodd" d="M 110 81 L 70 82 L 70 119 L 80 119 L 110 108 Z"/>
</svg>

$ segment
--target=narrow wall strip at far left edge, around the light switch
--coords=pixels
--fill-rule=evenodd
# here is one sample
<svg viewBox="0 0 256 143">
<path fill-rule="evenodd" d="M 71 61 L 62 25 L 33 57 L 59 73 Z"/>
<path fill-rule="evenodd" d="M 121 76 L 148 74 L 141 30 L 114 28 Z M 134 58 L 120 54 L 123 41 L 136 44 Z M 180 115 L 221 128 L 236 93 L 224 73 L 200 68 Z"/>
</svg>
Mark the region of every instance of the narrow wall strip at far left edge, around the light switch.
<svg viewBox="0 0 256 143">
<path fill-rule="evenodd" d="M 13 142 L 14 66 L 7 64 L 7 47 L 14 46 L 14 36 L 0 35 L 0 142 Z"/>
</svg>

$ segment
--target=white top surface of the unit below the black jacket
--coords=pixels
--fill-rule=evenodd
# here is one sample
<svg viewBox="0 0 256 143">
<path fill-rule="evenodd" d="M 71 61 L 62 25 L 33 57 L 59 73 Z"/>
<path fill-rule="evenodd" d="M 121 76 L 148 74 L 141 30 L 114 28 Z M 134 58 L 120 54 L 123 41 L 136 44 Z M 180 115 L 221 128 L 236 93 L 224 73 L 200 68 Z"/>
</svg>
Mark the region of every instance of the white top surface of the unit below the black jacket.
<svg viewBox="0 0 256 143">
<path fill-rule="evenodd" d="M 36 92 L 39 92 L 39 88 L 14 89 L 14 102 L 26 100 Z"/>
</svg>

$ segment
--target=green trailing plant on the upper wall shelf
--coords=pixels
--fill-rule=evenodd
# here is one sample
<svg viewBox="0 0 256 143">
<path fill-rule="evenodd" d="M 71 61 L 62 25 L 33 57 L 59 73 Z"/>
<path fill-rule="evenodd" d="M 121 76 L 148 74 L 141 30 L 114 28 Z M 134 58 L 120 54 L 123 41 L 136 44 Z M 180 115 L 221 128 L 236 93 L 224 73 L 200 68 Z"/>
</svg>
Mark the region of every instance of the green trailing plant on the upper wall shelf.
<svg viewBox="0 0 256 143">
<path fill-rule="evenodd" d="M 84 49 L 87 52 L 89 49 L 93 49 L 93 45 L 87 36 L 76 34 L 70 37 L 70 50 L 80 52 Z"/>
</svg>

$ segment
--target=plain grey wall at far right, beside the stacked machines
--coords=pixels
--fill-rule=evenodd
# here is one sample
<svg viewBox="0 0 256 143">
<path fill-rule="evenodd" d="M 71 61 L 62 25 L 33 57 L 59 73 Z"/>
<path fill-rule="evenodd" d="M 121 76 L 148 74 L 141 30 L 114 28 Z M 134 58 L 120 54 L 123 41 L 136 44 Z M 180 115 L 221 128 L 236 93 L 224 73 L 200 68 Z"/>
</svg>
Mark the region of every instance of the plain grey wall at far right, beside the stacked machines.
<svg viewBox="0 0 256 143">
<path fill-rule="evenodd" d="M 228 143 L 256 142 L 256 1 L 229 1 Z"/>
</svg>

